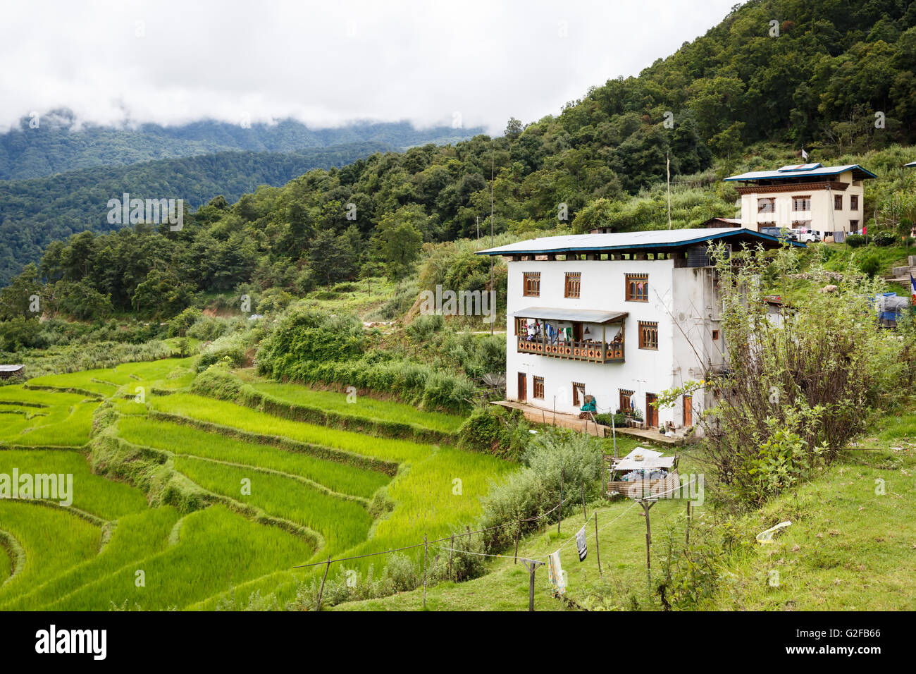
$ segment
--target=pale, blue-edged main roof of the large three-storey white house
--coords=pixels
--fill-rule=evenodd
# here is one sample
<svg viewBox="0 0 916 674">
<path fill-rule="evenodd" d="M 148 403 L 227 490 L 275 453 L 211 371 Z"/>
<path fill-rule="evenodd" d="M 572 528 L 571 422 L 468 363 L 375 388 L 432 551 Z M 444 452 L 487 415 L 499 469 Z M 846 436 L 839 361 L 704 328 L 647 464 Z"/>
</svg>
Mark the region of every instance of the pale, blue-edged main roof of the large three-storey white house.
<svg viewBox="0 0 916 674">
<path fill-rule="evenodd" d="M 752 238 L 763 243 L 781 244 L 779 237 L 738 227 L 699 227 L 693 229 L 648 229 L 612 234 L 570 234 L 562 237 L 531 238 L 494 249 L 478 250 L 477 255 L 540 255 L 544 253 L 588 252 L 605 250 L 638 250 L 686 248 L 717 239 Z M 804 248 L 799 241 L 793 246 Z"/>
</svg>

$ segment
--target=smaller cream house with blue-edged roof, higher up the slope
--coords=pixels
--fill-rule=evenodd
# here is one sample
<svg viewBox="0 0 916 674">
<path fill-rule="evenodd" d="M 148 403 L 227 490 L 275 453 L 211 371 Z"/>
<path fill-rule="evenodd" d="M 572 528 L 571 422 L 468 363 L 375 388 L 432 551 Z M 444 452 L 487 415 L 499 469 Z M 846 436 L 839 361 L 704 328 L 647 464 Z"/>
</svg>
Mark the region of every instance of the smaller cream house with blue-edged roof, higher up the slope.
<svg viewBox="0 0 916 674">
<path fill-rule="evenodd" d="M 863 181 L 877 178 L 858 164 L 798 164 L 776 171 L 749 171 L 725 178 L 739 182 L 741 227 L 761 231 L 786 227 L 817 232 L 825 240 L 843 240 L 865 222 Z"/>
</svg>

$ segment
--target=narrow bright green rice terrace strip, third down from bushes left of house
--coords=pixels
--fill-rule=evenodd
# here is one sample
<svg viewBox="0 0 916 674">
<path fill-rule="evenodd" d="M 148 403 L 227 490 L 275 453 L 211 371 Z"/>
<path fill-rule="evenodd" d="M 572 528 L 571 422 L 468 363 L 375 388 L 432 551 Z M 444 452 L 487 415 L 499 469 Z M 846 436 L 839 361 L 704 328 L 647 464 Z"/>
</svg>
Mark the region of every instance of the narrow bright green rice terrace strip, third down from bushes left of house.
<svg viewBox="0 0 916 674">
<path fill-rule="evenodd" d="M 136 445 L 165 449 L 175 454 L 243 463 L 298 475 L 333 492 L 365 498 L 389 481 L 387 475 L 375 470 L 360 470 L 336 461 L 142 417 L 122 418 L 118 422 L 118 435 Z"/>
</svg>

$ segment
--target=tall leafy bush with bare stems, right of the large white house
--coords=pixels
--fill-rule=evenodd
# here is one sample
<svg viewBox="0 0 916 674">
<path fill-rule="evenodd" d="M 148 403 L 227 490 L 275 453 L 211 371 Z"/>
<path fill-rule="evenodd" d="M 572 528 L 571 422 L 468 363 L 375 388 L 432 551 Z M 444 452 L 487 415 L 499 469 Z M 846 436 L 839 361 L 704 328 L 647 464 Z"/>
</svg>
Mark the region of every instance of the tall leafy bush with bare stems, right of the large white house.
<svg viewBox="0 0 916 674">
<path fill-rule="evenodd" d="M 883 291 L 880 280 L 849 264 L 835 281 L 815 263 L 807 271 L 812 285 L 834 282 L 836 291 L 800 295 L 771 320 L 764 297 L 787 296 L 800 253 L 716 255 L 727 373 L 701 382 L 718 398 L 697 425 L 715 491 L 746 507 L 831 465 L 872 415 L 894 403 L 906 365 L 900 339 L 876 329 L 870 298 Z M 777 284 L 768 287 L 768 278 Z"/>
</svg>

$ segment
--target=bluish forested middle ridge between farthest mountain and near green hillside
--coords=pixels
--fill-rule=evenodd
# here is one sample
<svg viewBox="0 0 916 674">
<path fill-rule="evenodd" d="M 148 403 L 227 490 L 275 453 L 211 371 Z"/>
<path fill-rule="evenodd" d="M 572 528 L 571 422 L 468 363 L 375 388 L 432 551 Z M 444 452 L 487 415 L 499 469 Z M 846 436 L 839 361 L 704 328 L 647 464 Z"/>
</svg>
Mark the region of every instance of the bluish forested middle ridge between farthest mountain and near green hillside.
<svg viewBox="0 0 916 674">
<path fill-rule="evenodd" d="M 296 152 L 218 152 L 199 157 L 101 166 L 45 178 L 0 181 L 0 286 L 49 241 L 89 229 L 122 227 L 107 221 L 109 199 L 184 199 L 197 208 L 219 194 L 236 201 L 258 185 L 281 185 L 305 171 L 344 166 L 391 146 L 367 141 Z"/>
</svg>

